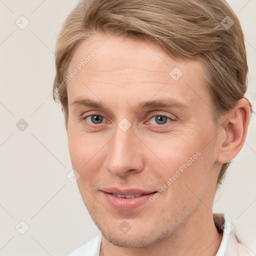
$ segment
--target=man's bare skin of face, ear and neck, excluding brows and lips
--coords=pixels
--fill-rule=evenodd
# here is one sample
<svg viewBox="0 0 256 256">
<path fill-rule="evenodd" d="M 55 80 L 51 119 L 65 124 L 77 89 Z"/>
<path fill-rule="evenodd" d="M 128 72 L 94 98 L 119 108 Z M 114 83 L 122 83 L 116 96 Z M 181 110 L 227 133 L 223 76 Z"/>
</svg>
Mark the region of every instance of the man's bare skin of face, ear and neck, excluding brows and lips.
<svg viewBox="0 0 256 256">
<path fill-rule="evenodd" d="M 159 45 L 109 36 L 95 34 L 78 46 L 68 72 L 94 48 L 99 53 L 67 85 L 68 148 L 81 197 L 103 234 L 100 255 L 215 255 L 222 238 L 212 218 L 216 180 L 221 163 L 242 147 L 247 101 L 219 117 L 218 128 L 200 60 L 176 59 Z M 183 73 L 176 81 L 169 75 L 174 67 Z M 105 109 L 72 104 L 85 97 Z M 137 109 L 140 101 L 159 99 L 187 107 Z M 91 119 L 95 114 L 101 123 Z M 153 114 L 169 118 L 159 124 Z M 123 118 L 131 124 L 127 131 L 118 127 Z M 117 210 L 100 191 L 157 191 L 197 151 L 200 156 L 154 202 Z M 123 221 L 131 227 L 125 234 L 118 228 Z"/>
</svg>

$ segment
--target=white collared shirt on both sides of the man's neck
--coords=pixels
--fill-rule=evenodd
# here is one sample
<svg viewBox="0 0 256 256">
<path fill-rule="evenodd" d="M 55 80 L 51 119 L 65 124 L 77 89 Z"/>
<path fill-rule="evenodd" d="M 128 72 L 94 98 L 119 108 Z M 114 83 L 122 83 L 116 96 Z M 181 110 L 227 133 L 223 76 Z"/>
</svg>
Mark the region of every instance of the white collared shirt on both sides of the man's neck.
<svg viewBox="0 0 256 256">
<path fill-rule="evenodd" d="M 214 213 L 222 219 L 223 235 L 216 256 L 251 256 L 254 255 L 244 246 L 232 231 L 232 224 L 225 213 Z M 218 226 L 218 229 L 220 226 Z M 101 234 L 82 244 L 67 256 L 98 256 L 101 244 Z"/>
</svg>

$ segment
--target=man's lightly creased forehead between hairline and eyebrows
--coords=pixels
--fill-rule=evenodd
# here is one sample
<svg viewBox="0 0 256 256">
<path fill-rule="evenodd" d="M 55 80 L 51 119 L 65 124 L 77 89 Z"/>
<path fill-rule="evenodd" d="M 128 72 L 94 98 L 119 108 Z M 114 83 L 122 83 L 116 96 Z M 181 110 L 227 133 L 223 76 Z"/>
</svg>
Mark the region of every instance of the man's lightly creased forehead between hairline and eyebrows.
<svg viewBox="0 0 256 256">
<path fill-rule="evenodd" d="M 146 99 L 156 91 L 190 104 L 195 97 L 208 97 L 200 60 L 170 57 L 160 45 L 141 40 L 95 34 L 75 50 L 68 73 L 74 68 L 78 72 L 67 84 L 72 99 L 87 94 L 90 86 L 101 96 L 118 94 L 127 102 L 130 96 Z"/>
</svg>

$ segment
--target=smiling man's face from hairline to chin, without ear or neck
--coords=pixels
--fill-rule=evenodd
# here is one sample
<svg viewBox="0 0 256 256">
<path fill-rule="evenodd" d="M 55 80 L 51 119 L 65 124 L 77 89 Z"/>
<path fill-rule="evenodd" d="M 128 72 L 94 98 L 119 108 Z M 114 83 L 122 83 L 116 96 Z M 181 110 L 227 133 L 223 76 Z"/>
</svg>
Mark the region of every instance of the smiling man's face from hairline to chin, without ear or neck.
<svg viewBox="0 0 256 256">
<path fill-rule="evenodd" d="M 104 237 L 144 247 L 209 212 L 202 202 L 210 207 L 214 196 L 217 131 L 202 63 L 97 34 L 75 50 L 68 73 L 74 68 L 68 148 Z"/>
</svg>

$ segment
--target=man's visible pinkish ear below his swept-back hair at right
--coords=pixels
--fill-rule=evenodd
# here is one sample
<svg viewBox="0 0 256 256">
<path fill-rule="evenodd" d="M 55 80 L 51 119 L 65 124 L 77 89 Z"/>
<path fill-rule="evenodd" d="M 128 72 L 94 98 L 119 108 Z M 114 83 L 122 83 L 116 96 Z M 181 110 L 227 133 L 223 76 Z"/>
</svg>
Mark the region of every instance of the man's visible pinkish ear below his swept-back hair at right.
<svg viewBox="0 0 256 256">
<path fill-rule="evenodd" d="M 231 111 L 221 117 L 219 150 L 216 159 L 219 163 L 231 161 L 241 150 L 249 117 L 250 103 L 245 98 L 239 99 Z"/>
</svg>

